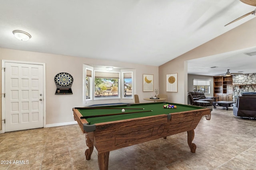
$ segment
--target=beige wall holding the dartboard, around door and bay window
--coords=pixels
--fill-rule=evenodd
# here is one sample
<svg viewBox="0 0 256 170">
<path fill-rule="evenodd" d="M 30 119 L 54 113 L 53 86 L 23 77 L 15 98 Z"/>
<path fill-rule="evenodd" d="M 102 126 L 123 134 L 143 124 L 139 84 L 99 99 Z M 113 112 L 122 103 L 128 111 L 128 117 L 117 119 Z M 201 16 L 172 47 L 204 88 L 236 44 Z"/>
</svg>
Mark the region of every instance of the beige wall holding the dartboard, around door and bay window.
<svg viewBox="0 0 256 170">
<path fill-rule="evenodd" d="M 136 69 L 136 94 L 140 97 L 140 102 L 146 102 L 143 98 L 151 96 L 151 92 L 142 92 L 142 74 L 154 74 L 154 88 L 158 88 L 158 66 L 148 66 L 133 63 L 122 63 L 116 61 L 96 60 L 83 57 L 72 57 L 65 55 L 54 55 L 46 53 L 35 53 L 28 51 L 18 51 L 0 48 L 1 60 L 28 61 L 46 63 L 46 125 L 54 123 L 65 123 L 74 121 L 72 115 L 73 107 L 82 107 L 82 80 L 83 64 L 96 64 L 104 66 L 116 66 Z M 56 85 L 54 76 L 59 72 L 68 72 L 73 78 L 72 95 L 55 95 Z M 1 75 L 2 76 L 2 75 Z M 0 86 L 2 82 L 0 83 Z M 2 88 L 2 87 L 1 87 Z M 1 92 L 3 93 L 3 92 Z M 134 103 L 132 99 L 126 100 L 100 100 L 88 102 L 86 106 L 100 103 Z M 1 102 L 0 102 L 1 103 Z M 1 104 L 2 109 L 2 104 Z M 0 114 L 2 120 L 2 114 Z M 2 123 L 2 121 L 1 121 Z M 2 124 L 0 123 L 0 129 Z"/>
</svg>

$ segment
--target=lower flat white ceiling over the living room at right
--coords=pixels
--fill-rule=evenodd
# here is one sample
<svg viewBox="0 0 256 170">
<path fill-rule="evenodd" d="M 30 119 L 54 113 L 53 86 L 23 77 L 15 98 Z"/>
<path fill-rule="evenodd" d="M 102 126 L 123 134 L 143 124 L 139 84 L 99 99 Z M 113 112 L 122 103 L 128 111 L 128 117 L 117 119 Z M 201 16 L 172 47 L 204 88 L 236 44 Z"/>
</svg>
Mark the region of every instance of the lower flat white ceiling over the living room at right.
<svg viewBox="0 0 256 170">
<path fill-rule="evenodd" d="M 256 47 L 252 47 L 248 49 L 230 51 L 228 53 L 189 60 L 188 73 L 205 76 L 216 76 L 218 74 L 225 74 L 227 69 L 230 69 L 230 73 L 256 73 L 256 55 L 248 56 L 244 54 L 255 51 Z"/>
</svg>

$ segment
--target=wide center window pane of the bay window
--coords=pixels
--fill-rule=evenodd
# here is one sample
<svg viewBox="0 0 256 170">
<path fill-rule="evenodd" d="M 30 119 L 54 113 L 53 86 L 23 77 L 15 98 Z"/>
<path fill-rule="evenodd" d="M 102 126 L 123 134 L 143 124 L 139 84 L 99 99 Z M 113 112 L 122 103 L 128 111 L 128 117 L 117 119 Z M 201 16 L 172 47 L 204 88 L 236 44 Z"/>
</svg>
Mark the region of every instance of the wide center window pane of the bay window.
<svg viewBox="0 0 256 170">
<path fill-rule="evenodd" d="M 119 72 L 94 72 L 94 100 L 120 98 Z"/>
</svg>

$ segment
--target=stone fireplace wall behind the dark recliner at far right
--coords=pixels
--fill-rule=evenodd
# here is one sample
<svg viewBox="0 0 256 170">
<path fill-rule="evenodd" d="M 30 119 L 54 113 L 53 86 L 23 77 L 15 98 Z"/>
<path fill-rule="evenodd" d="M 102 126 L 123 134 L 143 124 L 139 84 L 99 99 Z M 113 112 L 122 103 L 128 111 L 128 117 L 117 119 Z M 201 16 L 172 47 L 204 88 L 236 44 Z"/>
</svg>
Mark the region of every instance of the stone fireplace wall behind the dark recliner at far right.
<svg viewBox="0 0 256 170">
<path fill-rule="evenodd" d="M 236 101 L 243 92 L 256 92 L 256 73 L 233 75 L 232 99 Z"/>
</svg>

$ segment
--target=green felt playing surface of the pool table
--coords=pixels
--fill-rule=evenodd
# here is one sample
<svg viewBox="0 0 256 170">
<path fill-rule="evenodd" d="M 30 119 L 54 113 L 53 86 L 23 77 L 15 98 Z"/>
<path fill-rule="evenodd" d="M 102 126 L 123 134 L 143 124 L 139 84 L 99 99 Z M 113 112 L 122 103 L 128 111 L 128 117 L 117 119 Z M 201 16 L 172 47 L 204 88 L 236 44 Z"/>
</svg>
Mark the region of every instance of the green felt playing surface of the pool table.
<svg viewBox="0 0 256 170">
<path fill-rule="evenodd" d="M 165 104 L 175 105 L 176 109 L 163 108 Z M 103 122 L 109 122 L 109 121 L 118 121 L 118 120 L 146 117 L 146 116 L 152 116 L 152 115 L 161 115 L 161 114 L 169 114 L 169 113 L 176 113 L 176 112 L 182 112 L 182 111 L 191 111 L 196 109 L 204 109 L 205 107 L 175 104 L 170 102 L 154 102 L 154 103 L 140 103 L 140 104 L 128 104 L 128 105 L 124 104 L 124 105 L 114 105 L 114 106 L 98 106 L 97 108 L 100 108 L 100 109 L 88 109 L 86 107 L 79 107 L 78 111 L 81 113 L 82 116 L 122 113 L 122 109 L 125 109 L 124 113 L 142 111 L 140 113 L 86 118 L 86 121 L 88 121 L 88 123 L 92 125 L 94 123 L 103 123 Z M 103 108 L 106 108 L 106 109 L 103 109 Z M 113 108 L 113 109 L 109 109 L 109 108 Z M 117 108 L 120 108 L 120 109 L 117 109 Z"/>
</svg>

